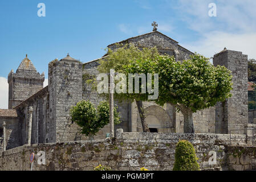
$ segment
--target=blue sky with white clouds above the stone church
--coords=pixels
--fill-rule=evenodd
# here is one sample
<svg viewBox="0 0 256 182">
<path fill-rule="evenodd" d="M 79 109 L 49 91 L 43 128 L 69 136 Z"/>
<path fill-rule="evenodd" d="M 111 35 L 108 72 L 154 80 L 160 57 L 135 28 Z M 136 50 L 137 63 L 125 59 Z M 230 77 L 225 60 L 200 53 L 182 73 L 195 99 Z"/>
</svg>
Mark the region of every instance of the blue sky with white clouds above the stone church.
<svg viewBox="0 0 256 182">
<path fill-rule="evenodd" d="M 208 15 L 216 3 L 217 16 Z M 46 17 L 38 17 L 38 3 Z M 0 107 L 7 107 L 7 75 L 28 54 L 38 72 L 69 53 L 86 63 L 108 44 L 158 30 L 193 52 L 211 57 L 224 47 L 256 58 L 256 1 L 60 1 L 0 2 Z M 47 84 L 47 82 L 46 82 Z"/>
</svg>

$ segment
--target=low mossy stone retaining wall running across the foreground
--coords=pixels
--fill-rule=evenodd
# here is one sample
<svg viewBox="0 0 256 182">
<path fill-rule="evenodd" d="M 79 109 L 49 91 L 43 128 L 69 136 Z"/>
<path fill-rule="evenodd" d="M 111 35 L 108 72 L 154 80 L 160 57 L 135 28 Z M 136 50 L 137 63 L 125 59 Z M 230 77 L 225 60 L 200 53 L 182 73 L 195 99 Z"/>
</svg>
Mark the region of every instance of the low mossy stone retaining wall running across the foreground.
<svg viewBox="0 0 256 182">
<path fill-rule="evenodd" d="M 46 153 L 46 165 L 34 163 L 33 170 L 92 170 L 102 164 L 112 170 L 172 170 L 177 142 L 189 140 L 202 170 L 256 169 L 256 147 L 251 136 L 227 134 L 157 134 L 117 132 L 116 139 L 33 144 L 2 152 L 1 170 L 30 170 L 31 152 Z M 255 142 L 255 141 L 254 141 Z M 230 145 L 231 144 L 231 145 Z M 249 147 L 251 146 L 251 147 Z M 217 163 L 209 164 L 209 152 Z M 36 160 L 35 160 L 36 161 Z"/>
</svg>

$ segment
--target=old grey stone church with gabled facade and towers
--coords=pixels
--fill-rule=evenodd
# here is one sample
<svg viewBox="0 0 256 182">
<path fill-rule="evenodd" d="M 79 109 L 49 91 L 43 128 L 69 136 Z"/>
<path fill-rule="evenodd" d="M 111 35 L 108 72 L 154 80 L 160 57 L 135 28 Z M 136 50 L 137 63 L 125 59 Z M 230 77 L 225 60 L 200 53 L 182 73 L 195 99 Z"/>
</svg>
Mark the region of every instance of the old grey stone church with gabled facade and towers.
<svg viewBox="0 0 256 182">
<path fill-rule="evenodd" d="M 193 54 L 156 28 L 119 43 L 134 43 L 141 48 L 156 46 L 160 53 L 173 55 L 177 61 L 189 59 Z M 116 43 L 108 48 L 115 49 Z M 104 55 L 100 59 L 106 57 Z M 38 73 L 26 56 L 17 71 L 11 70 L 8 75 L 9 109 L 0 109 L 0 151 L 23 144 L 87 139 L 71 121 L 69 112 L 78 101 L 90 100 L 97 105 L 103 100 L 83 78 L 83 75 L 97 75 L 100 59 L 82 63 L 67 55 L 61 60 L 51 61 L 48 64 L 48 86 L 43 88 L 44 73 Z M 224 103 L 194 113 L 194 130 L 196 133 L 246 134 L 247 127 L 255 127 L 248 122 L 247 55 L 224 49 L 214 55 L 213 64 L 224 65 L 232 72 L 233 96 Z M 119 107 L 122 121 L 115 129 L 141 132 L 136 104 L 127 101 L 115 104 Z M 144 102 L 143 105 L 146 122 L 152 132 L 183 133 L 183 116 L 172 105 L 160 107 L 154 102 Z M 104 139 L 108 134 L 109 126 L 105 126 L 95 139 Z"/>
</svg>

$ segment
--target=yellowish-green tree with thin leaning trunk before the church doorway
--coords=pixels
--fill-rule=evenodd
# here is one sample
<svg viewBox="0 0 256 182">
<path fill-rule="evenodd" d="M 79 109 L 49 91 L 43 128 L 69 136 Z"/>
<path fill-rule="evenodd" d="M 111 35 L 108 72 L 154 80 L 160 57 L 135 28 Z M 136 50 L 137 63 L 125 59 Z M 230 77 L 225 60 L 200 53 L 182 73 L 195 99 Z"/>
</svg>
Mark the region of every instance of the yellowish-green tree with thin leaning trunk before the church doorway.
<svg viewBox="0 0 256 182">
<path fill-rule="evenodd" d="M 139 61 L 144 63 L 145 60 L 154 60 L 155 57 L 159 56 L 159 52 L 157 51 L 156 47 L 140 49 L 133 44 L 116 44 L 115 50 L 109 48 L 107 51 L 107 57 L 100 60 L 100 65 L 97 67 L 97 70 L 100 73 L 109 73 L 110 69 L 115 69 L 115 72 L 124 73 L 127 76 L 127 80 L 128 73 L 145 73 L 147 75 L 147 69 L 143 69 L 142 67 L 138 69 L 132 69 L 131 67 L 127 67 L 127 65 L 130 65 L 134 62 L 139 63 Z M 131 70 L 133 72 L 131 72 Z M 141 85 L 140 80 L 140 90 L 141 87 L 143 87 L 143 85 Z M 148 93 L 128 93 L 127 86 L 127 93 L 114 94 L 114 96 L 115 99 L 119 101 L 128 100 L 133 102 L 135 100 L 139 110 L 143 131 L 149 132 L 147 123 L 145 122 L 145 113 L 143 110 L 143 101 L 148 100 Z"/>
</svg>

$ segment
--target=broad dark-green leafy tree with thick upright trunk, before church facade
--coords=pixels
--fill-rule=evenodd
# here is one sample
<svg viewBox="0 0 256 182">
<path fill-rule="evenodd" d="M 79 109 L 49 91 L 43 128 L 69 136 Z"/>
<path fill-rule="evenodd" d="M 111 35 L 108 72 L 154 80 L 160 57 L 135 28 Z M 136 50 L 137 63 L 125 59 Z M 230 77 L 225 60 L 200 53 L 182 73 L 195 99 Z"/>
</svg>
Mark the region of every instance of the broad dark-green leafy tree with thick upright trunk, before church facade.
<svg viewBox="0 0 256 182">
<path fill-rule="evenodd" d="M 224 66 L 214 67 L 206 57 L 195 54 L 175 61 L 159 56 L 152 64 L 159 73 L 157 104 L 170 103 L 184 115 L 184 133 L 194 133 L 192 114 L 231 97 L 232 76 Z"/>
</svg>

